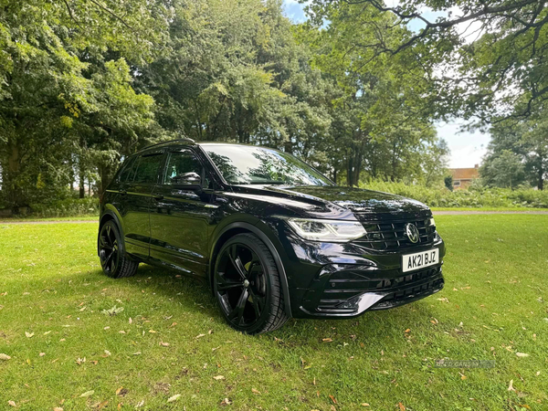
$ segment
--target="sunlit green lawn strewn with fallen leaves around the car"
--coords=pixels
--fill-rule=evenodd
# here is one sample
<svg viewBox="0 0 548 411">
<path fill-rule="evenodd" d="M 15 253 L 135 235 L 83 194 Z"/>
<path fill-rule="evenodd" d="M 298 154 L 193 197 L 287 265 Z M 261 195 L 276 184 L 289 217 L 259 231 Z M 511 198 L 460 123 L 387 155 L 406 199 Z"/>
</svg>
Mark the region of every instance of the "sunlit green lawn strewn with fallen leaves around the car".
<svg viewBox="0 0 548 411">
<path fill-rule="evenodd" d="M 228 328 L 195 279 L 144 265 L 131 279 L 103 276 L 94 225 L 0 226 L 0 353 L 11 356 L 0 409 L 547 409 L 548 216 L 436 220 L 445 290 L 262 336 Z M 101 313 L 114 305 L 124 311 Z M 496 367 L 435 368 L 441 358 Z"/>
</svg>

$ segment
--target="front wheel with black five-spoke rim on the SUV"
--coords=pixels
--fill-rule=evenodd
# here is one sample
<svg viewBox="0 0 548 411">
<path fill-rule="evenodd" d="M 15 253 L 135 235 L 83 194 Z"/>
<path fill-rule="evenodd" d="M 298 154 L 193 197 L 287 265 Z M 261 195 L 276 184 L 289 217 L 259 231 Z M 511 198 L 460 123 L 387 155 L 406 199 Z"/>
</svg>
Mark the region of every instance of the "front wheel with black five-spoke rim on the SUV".
<svg viewBox="0 0 548 411">
<path fill-rule="evenodd" d="M 271 332 L 288 321 L 274 258 L 253 234 L 238 234 L 223 245 L 212 285 L 223 316 L 239 332 Z"/>
</svg>

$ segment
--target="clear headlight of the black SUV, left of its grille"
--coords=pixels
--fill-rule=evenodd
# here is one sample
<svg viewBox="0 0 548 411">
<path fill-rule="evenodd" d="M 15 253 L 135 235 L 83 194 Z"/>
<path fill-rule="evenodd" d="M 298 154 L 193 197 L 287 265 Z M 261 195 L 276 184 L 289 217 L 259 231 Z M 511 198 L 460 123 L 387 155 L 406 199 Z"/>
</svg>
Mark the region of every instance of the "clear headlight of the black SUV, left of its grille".
<svg viewBox="0 0 548 411">
<path fill-rule="evenodd" d="M 300 237 L 313 241 L 341 243 L 367 234 L 364 226 L 357 221 L 288 218 L 287 222 Z"/>
</svg>

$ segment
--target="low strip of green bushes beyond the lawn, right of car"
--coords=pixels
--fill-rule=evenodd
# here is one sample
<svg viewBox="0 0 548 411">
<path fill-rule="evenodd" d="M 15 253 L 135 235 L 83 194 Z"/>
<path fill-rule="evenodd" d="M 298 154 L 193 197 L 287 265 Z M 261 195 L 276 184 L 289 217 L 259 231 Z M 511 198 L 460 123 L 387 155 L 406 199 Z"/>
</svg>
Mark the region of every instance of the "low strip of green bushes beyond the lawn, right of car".
<svg viewBox="0 0 548 411">
<path fill-rule="evenodd" d="M 414 198 L 431 207 L 536 207 L 548 208 L 548 191 L 522 188 L 486 188 L 472 184 L 469 190 L 449 191 L 446 187 L 426 187 L 404 183 L 372 181 L 360 185 L 370 190 L 384 191 Z"/>
</svg>

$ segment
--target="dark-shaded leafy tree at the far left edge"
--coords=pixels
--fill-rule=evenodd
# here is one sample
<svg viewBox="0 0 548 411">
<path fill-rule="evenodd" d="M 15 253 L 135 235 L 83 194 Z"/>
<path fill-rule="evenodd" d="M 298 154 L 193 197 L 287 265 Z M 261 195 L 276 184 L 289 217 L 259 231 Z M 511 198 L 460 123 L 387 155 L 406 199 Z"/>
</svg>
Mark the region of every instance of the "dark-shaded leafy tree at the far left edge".
<svg viewBox="0 0 548 411">
<path fill-rule="evenodd" d="M 0 7 L 2 191 L 17 207 L 62 191 L 98 135 L 116 146 L 151 125 L 153 100 L 132 91 L 124 57 L 153 58 L 169 10 L 148 0 Z"/>
</svg>

